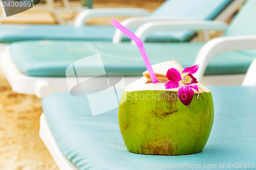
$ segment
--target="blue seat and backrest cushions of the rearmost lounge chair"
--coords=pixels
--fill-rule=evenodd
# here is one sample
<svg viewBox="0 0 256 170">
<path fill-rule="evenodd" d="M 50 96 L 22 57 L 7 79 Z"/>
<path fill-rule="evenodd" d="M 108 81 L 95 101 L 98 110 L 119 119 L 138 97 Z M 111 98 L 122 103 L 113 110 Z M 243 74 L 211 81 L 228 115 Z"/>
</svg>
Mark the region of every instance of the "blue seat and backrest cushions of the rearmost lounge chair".
<svg viewBox="0 0 256 170">
<path fill-rule="evenodd" d="M 232 0 L 169 0 L 150 16 L 184 16 L 197 19 L 214 19 Z M 0 42 L 20 40 L 101 40 L 111 41 L 115 32 L 113 26 L 72 26 L 58 25 L 1 25 Z M 191 31 L 158 31 L 148 37 L 148 41 L 186 41 Z M 124 37 L 124 40 L 129 40 Z"/>
</svg>

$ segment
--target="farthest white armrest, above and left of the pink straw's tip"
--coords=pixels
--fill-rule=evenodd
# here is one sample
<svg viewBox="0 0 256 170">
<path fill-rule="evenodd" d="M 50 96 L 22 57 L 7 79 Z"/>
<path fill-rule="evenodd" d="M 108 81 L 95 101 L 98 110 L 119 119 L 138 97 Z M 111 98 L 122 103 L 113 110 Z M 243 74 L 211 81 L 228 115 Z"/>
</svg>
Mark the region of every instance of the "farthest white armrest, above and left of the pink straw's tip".
<svg viewBox="0 0 256 170">
<path fill-rule="evenodd" d="M 150 12 L 142 8 L 103 8 L 88 9 L 81 12 L 76 20 L 75 27 L 81 27 L 91 17 L 95 16 L 147 16 Z"/>
</svg>

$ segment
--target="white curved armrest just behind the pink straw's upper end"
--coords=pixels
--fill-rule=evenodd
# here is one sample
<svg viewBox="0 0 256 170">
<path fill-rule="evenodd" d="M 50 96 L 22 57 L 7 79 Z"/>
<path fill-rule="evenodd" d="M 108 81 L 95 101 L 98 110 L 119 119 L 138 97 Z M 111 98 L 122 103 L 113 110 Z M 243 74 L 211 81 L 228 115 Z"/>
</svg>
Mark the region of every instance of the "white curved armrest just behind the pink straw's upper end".
<svg viewBox="0 0 256 170">
<path fill-rule="evenodd" d="M 192 20 L 192 17 L 131 17 L 123 20 L 121 25 L 123 25 L 127 29 L 138 28 L 144 23 L 152 22 L 152 21 L 174 21 L 174 20 Z M 116 29 L 115 34 L 113 36 L 112 42 L 119 43 L 122 41 L 123 33 Z"/>
</svg>

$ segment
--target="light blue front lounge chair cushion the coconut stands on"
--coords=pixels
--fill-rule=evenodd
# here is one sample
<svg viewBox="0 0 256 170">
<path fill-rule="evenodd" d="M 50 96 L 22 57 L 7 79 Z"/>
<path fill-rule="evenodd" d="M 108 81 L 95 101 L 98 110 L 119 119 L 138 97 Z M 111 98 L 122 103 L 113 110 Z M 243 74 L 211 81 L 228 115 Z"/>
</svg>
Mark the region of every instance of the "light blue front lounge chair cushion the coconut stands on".
<svg viewBox="0 0 256 170">
<path fill-rule="evenodd" d="M 179 168 L 179 164 L 183 167 L 183 163 L 186 165 L 182 169 L 195 164 L 202 169 L 206 169 L 204 164 L 210 166 L 207 169 L 227 169 L 233 163 L 234 167 L 243 163 L 243 168 L 249 163 L 254 169 L 256 88 L 217 86 L 210 90 L 215 104 L 214 126 L 204 150 L 192 155 L 139 155 L 127 151 L 119 131 L 118 109 L 92 116 L 86 98 L 56 93 L 42 100 L 42 109 L 59 149 L 79 169 L 166 169 L 173 165 Z"/>
</svg>

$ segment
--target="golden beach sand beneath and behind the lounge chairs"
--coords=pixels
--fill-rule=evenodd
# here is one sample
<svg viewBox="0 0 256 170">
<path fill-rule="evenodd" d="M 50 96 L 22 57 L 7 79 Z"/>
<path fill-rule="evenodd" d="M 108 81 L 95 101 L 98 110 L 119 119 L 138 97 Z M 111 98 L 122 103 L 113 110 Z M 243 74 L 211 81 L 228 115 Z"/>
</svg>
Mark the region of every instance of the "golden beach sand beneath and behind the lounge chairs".
<svg viewBox="0 0 256 170">
<path fill-rule="evenodd" d="M 94 1 L 95 8 L 103 7 L 142 7 L 150 11 L 162 2 L 148 1 Z M 119 2 L 119 3 L 118 3 Z M 128 3 L 129 2 L 129 3 Z M 29 11 L 27 11 L 29 13 Z M 33 11 L 34 13 L 34 11 Z M 27 15 L 27 14 L 26 14 Z M 36 13 L 41 18 L 54 21 L 45 12 Z M 16 17 L 17 18 L 17 17 Z M 22 17 L 20 17 L 22 18 Z M 47 19 L 50 18 L 50 19 Z M 122 20 L 123 18 L 118 18 Z M 25 19 L 27 23 L 30 21 Z M 43 20 L 43 19 L 41 19 Z M 93 19 L 89 22 L 109 24 L 107 20 Z M 31 21 L 30 21 L 31 22 Z M 38 22 L 38 20 L 37 20 Z M 20 22 L 19 22 L 20 23 Z M 1 69 L 1 68 L 0 68 Z M 40 170 L 58 169 L 45 144 L 39 138 L 39 118 L 42 113 L 40 99 L 35 95 L 18 94 L 11 90 L 10 85 L 0 70 L 0 169 L 4 170 Z"/>
</svg>

